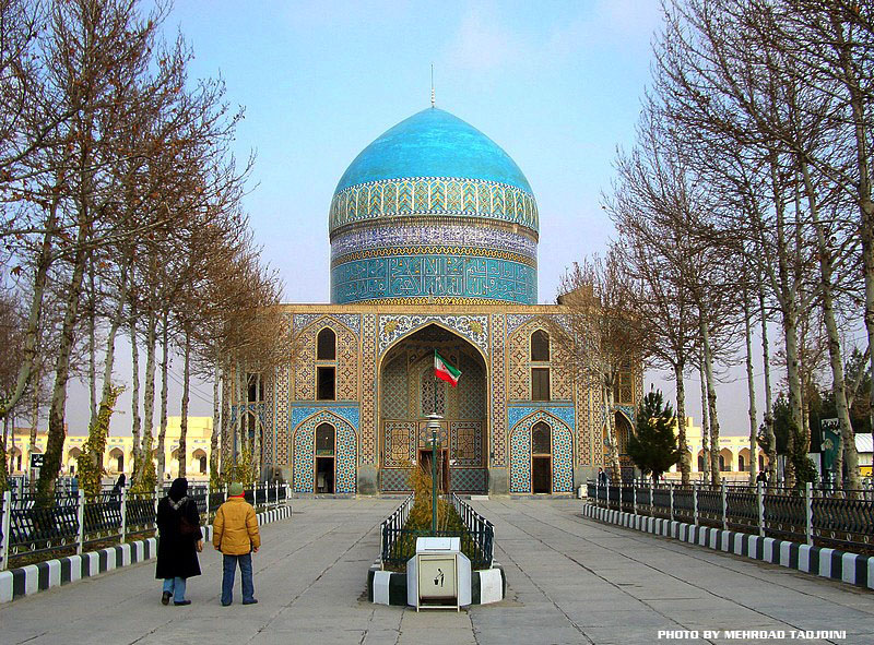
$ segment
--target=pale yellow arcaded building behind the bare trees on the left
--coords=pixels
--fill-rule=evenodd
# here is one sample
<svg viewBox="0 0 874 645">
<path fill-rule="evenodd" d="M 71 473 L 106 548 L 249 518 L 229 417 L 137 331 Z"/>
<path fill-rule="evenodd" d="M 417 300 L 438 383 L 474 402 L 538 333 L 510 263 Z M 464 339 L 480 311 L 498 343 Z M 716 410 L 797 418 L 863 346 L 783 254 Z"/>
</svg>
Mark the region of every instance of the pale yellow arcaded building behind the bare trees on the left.
<svg viewBox="0 0 874 645">
<path fill-rule="evenodd" d="M 167 433 L 164 439 L 165 473 L 175 477 L 179 471 L 179 425 L 181 417 L 167 418 Z M 7 445 L 10 457 L 10 474 L 22 475 L 31 463 L 31 429 L 15 428 L 14 447 Z M 186 435 L 186 476 L 189 479 L 206 479 L 210 470 L 210 439 L 212 437 L 212 417 L 188 417 Z M 35 454 L 46 451 L 46 430 L 37 430 Z M 63 444 L 61 471 L 75 475 L 76 457 L 82 454 L 82 446 L 87 435 L 68 434 Z M 155 437 L 153 445 L 157 444 Z M 152 459 L 157 464 L 157 450 L 152 451 Z M 109 437 L 103 455 L 103 465 L 107 475 L 131 474 L 133 468 L 133 438 Z"/>
</svg>

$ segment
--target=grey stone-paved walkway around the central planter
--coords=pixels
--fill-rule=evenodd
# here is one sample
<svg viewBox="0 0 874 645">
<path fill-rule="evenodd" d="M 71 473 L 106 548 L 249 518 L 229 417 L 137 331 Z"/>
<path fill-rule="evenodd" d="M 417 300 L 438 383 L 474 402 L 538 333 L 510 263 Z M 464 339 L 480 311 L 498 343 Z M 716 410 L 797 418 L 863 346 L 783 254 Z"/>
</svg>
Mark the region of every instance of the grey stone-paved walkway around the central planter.
<svg viewBox="0 0 874 645">
<path fill-rule="evenodd" d="M 295 500 L 291 519 L 262 528 L 258 605 L 243 607 L 239 586 L 233 606 L 220 605 L 221 560 L 209 548 L 203 575 L 189 581 L 189 607 L 161 605 L 154 562 L 146 562 L 0 607 L 0 643 L 783 642 L 727 640 L 725 630 L 783 631 L 784 642 L 874 642 L 871 592 L 601 525 L 580 516 L 582 502 L 567 499 L 474 503 L 495 524 L 496 559 L 509 582 L 503 602 L 420 613 L 375 606 L 366 600 L 367 569 L 379 524 L 398 503 Z M 663 630 L 699 637 L 660 638 Z M 705 637 L 704 630 L 719 635 Z M 846 631 L 846 637 L 799 641 L 793 630 Z"/>
</svg>

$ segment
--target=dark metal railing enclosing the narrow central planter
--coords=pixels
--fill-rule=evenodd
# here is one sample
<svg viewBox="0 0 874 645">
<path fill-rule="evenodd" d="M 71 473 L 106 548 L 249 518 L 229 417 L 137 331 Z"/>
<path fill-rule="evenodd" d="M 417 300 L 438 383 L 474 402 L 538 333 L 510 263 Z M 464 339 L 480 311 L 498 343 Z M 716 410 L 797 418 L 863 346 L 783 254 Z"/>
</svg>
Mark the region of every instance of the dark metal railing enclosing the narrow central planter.
<svg viewBox="0 0 874 645">
<path fill-rule="evenodd" d="M 410 516 L 410 509 L 413 506 L 413 495 L 411 494 L 380 526 L 379 552 L 383 569 L 387 565 L 392 569 L 404 566 L 406 561 L 416 553 L 416 538 L 425 536 L 461 538 L 461 551 L 470 558 L 473 569 L 492 566 L 495 527 L 454 493 L 446 495 L 444 499 L 456 509 L 465 530 L 438 530 L 434 534 L 430 530 L 404 528 Z"/>
</svg>

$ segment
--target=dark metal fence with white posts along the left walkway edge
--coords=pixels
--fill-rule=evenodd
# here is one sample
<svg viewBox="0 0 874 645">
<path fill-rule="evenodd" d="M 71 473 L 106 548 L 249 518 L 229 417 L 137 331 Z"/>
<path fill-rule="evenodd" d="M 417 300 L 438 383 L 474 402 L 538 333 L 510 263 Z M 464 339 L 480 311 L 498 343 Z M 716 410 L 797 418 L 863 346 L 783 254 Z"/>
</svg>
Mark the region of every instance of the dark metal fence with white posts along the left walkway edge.
<svg viewBox="0 0 874 645">
<path fill-rule="evenodd" d="M 160 485 L 152 492 L 114 492 L 111 487 L 95 498 L 84 491 L 58 491 L 55 504 L 39 506 L 36 498 L 23 488 L 3 493 L 0 507 L 0 571 L 15 561 L 33 563 L 58 556 L 82 553 L 93 545 L 116 545 L 131 537 L 153 535 L 157 502 L 169 491 Z M 212 522 L 225 501 L 227 489 L 210 491 L 205 486 L 190 486 L 203 522 Z M 288 485 L 259 483 L 246 491 L 246 500 L 258 510 L 287 503 Z"/>
</svg>

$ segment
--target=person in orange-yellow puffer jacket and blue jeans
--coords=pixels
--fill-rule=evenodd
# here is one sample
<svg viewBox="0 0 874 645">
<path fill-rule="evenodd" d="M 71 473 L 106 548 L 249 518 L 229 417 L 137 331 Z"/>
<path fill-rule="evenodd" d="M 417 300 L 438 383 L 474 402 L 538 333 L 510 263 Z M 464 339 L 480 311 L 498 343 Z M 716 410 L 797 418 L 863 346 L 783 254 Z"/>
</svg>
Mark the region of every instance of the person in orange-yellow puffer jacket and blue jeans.
<svg viewBox="0 0 874 645">
<path fill-rule="evenodd" d="M 243 485 L 232 483 L 227 489 L 227 501 L 218 506 L 212 524 L 212 546 L 222 552 L 222 607 L 234 599 L 234 576 L 239 564 L 243 581 L 243 604 L 255 605 L 252 583 L 252 553 L 261 547 L 258 517 L 255 509 L 243 497 Z"/>
</svg>

